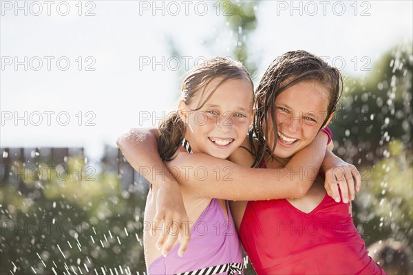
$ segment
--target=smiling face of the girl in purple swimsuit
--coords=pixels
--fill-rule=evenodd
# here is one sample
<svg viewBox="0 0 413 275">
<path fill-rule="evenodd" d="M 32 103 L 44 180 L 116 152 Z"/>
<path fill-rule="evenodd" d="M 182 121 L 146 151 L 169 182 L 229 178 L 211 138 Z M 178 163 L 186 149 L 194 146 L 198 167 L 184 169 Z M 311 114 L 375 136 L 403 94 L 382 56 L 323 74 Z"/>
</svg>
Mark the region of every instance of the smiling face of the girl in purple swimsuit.
<svg viewBox="0 0 413 275">
<path fill-rule="evenodd" d="M 246 80 L 227 80 L 204 103 L 220 80 L 214 78 L 204 93 L 198 91 L 191 104 L 181 101 L 180 116 L 187 122 L 185 139 L 194 153 L 224 159 L 242 144 L 253 120 L 253 87 Z"/>
</svg>

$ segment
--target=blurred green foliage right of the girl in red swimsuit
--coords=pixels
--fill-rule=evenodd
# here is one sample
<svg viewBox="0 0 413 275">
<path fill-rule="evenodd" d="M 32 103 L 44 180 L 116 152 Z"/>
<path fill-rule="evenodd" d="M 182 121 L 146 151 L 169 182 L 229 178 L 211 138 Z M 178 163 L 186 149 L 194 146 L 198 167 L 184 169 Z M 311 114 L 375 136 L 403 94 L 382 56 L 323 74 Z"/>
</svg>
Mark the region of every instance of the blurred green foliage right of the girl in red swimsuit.
<svg viewBox="0 0 413 275">
<path fill-rule="evenodd" d="M 384 54 L 361 79 L 346 80 L 330 123 L 335 153 L 358 166 L 363 179 L 354 222 L 367 245 L 413 236 L 412 45 Z"/>
</svg>

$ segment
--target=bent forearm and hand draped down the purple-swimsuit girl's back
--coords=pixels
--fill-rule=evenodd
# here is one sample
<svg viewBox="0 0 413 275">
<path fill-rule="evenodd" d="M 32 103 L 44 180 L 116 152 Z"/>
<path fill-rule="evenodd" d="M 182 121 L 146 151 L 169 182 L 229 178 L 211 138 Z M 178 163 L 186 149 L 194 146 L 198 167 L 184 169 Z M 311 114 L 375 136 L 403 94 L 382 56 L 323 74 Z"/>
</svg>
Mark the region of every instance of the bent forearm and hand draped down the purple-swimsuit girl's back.
<svg viewBox="0 0 413 275">
<path fill-rule="evenodd" d="M 166 169 L 158 155 L 157 135 L 156 129 L 131 129 L 118 137 L 116 144 L 129 164 L 147 181 L 159 188 L 156 197 L 156 215 L 153 219 L 155 224 L 151 226 L 152 234 L 160 225 L 178 223 L 179 232 L 182 234 L 169 236 L 168 243 L 175 243 L 179 237 L 181 244 L 178 254 L 182 255 L 187 250 L 191 239 L 189 218 L 178 182 L 173 177 L 165 177 Z M 188 233 L 183 234 L 183 232 Z M 163 243 L 167 236 L 167 234 L 161 234 L 158 243 Z"/>
</svg>

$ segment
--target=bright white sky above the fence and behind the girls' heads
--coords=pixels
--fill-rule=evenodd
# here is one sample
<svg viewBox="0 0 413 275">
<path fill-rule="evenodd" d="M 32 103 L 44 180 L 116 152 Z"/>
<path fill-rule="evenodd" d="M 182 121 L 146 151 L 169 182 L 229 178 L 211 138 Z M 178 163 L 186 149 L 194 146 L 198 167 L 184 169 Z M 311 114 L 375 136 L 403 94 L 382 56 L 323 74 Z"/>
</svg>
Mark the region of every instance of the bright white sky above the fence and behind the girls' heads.
<svg viewBox="0 0 413 275">
<path fill-rule="evenodd" d="M 156 126 L 195 61 L 231 56 L 231 5 L 216 3 L 1 1 L 1 146 L 84 146 L 97 157 L 131 127 Z M 412 1 L 262 1 L 246 43 L 260 75 L 303 49 L 362 76 L 412 42 L 412 10 Z"/>
</svg>

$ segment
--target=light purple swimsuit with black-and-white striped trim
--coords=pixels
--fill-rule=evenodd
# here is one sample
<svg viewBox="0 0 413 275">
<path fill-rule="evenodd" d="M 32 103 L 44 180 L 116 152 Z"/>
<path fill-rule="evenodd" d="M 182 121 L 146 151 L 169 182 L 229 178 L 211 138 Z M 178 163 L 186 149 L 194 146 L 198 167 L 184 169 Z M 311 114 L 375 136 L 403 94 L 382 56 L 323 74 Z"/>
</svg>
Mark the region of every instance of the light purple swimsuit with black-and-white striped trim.
<svg viewBox="0 0 413 275">
<path fill-rule="evenodd" d="M 218 199 L 212 199 L 191 228 L 191 241 L 182 258 L 176 245 L 149 265 L 148 274 L 243 274 L 241 243 L 228 201 L 225 204 L 228 221 Z"/>
</svg>

